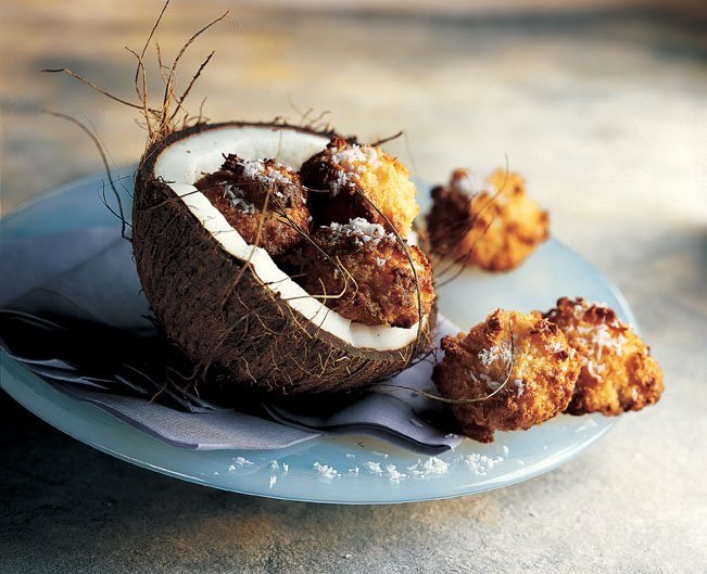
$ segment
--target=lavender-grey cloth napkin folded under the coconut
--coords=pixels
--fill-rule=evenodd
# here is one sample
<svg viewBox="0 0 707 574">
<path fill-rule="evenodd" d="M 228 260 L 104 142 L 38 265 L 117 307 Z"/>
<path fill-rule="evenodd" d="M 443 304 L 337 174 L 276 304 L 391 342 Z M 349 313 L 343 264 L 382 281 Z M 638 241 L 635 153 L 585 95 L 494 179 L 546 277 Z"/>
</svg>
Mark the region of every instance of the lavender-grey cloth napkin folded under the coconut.
<svg viewBox="0 0 707 574">
<path fill-rule="evenodd" d="M 173 446 L 279 449 L 331 433 L 433 455 L 460 441 L 434 423 L 443 419 L 440 403 L 391 386 L 433 391 L 430 361 L 348 404 L 312 411 L 268 403 L 241 412 L 165 390 L 130 244 L 114 228 L 13 240 L 0 248 L 4 353 L 68 396 Z M 438 336 L 455 331 L 443 319 L 438 324 Z"/>
</svg>

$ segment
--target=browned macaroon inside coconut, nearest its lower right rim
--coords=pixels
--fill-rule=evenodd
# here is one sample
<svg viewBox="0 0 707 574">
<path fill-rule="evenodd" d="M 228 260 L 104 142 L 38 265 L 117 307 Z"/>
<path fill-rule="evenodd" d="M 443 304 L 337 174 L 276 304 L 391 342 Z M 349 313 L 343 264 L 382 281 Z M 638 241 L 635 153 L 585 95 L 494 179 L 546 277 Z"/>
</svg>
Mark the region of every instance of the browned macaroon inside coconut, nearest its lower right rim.
<svg viewBox="0 0 707 574">
<path fill-rule="evenodd" d="M 419 321 L 411 262 L 382 226 L 357 218 L 321 227 L 312 240 L 314 244 L 303 245 L 300 271 L 293 273 L 307 293 L 326 295 L 329 298 L 323 297 L 323 302 L 352 321 L 402 328 Z M 435 296 L 432 269 L 417 246 L 407 250 L 419 281 L 422 315 L 427 315 Z"/>
</svg>

